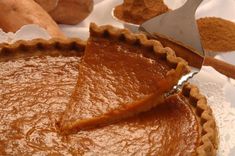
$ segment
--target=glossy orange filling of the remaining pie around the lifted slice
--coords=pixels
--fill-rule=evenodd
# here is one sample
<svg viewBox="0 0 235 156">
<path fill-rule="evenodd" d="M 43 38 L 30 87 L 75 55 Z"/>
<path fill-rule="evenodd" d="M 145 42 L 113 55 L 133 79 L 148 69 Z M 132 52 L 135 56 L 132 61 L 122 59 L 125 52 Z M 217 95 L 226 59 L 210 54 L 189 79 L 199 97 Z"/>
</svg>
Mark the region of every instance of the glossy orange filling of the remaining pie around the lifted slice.
<svg viewBox="0 0 235 156">
<path fill-rule="evenodd" d="M 78 63 L 78 57 L 0 62 L 0 154 L 187 155 L 195 151 L 198 122 L 182 95 L 128 120 L 61 136 L 55 123 L 76 84 Z"/>
</svg>

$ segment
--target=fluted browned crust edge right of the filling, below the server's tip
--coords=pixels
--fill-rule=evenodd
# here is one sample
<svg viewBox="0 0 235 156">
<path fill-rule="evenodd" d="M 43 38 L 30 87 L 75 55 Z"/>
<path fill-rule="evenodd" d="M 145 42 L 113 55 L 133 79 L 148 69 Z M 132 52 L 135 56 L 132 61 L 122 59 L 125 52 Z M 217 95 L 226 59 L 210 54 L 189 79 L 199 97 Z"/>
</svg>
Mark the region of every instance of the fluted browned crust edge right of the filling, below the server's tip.
<svg viewBox="0 0 235 156">
<path fill-rule="evenodd" d="M 196 149 L 196 155 L 215 156 L 218 148 L 218 131 L 206 97 L 199 92 L 196 86 L 189 83 L 184 85 L 181 94 L 189 99 L 200 125 L 201 137 L 199 146 Z"/>
</svg>

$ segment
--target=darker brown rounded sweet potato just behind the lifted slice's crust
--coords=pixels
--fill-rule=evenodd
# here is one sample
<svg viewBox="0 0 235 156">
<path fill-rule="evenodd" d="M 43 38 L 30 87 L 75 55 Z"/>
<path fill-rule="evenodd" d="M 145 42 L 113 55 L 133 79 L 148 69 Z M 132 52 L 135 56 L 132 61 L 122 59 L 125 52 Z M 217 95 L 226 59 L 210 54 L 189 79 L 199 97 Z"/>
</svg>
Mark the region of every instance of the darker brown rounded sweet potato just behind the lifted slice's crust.
<svg viewBox="0 0 235 156">
<path fill-rule="evenodd" d="M 93 3 L 93 0 L 59 0 L 49 14 L 57 23 L 78 24 L 91 13 Z"/>
</svg>

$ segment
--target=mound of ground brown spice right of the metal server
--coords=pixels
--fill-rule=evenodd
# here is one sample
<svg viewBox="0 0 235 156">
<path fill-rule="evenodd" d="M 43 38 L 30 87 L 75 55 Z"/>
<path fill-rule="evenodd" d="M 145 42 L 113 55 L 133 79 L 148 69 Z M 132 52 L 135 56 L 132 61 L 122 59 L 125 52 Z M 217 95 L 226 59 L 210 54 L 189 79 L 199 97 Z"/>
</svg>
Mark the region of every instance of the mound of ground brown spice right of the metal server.
<svg viewBox="0 0 235 156">
<path fill-rule="evenodd" d="M 217 17 L 201 18 L 197 23 L 205 50 L 235 50 L 235 23 Z"/>
</svg>

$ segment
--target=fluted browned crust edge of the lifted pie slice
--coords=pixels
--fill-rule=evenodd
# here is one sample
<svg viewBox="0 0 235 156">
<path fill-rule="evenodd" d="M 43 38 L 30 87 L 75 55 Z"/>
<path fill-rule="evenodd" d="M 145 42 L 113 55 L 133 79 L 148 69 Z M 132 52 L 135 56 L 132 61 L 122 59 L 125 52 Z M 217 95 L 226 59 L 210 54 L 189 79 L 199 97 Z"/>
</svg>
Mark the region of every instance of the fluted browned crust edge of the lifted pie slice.
<svg viewBox="0 0 235 156">
<path fill-rule="evenodd" d="M 95 23 L 91 23 L 90 36 L 125 41 L 128 44 L 152 49 L 152 52 L 157 57 L 166 60 L 173 67 L 167 75 L 178 73 L 178 76 L 181 77 L 189 72 L 188 63 L 184 59 L 177 57 L 171 48 L 163 47 L 159 41 L 148 39 L 144 34 L 134 34 L 127 29 L 120 29 L 111 25 L 97 26 Z"/>
</svg>

